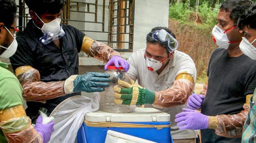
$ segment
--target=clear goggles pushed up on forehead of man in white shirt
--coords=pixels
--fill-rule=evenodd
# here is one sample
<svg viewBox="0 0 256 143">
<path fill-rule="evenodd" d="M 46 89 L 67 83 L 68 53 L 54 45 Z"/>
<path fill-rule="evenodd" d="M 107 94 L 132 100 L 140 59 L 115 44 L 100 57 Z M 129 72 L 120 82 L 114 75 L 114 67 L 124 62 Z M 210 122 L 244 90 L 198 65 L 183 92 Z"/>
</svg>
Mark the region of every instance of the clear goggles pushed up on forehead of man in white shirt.
<svg viewBox="0 0 256 143">
<path fill-rule="evenodd" d="M 179 42 L 173 36 L 171 36 L 171 34 L 165 31 L 165 29 L 156 30 L 152 33 L 152 37 L 154 40 L 158 42 L 168 42 L 167 50 L 169 51 L 169 53 L 177 50 Z"/>
</svg>

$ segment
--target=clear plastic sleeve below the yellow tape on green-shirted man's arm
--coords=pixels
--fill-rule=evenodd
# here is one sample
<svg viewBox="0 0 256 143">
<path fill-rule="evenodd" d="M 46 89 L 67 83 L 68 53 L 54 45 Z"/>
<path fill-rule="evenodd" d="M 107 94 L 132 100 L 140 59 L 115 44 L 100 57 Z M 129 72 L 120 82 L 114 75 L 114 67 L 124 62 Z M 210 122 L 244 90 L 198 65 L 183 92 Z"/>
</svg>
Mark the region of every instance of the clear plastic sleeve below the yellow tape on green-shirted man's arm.
<svg viewBox="0 0 256 143">
<path fill-rule="evenodd" d="M 42 137 L 27 116 L 0 122 L 0 128 L 9 143 L 43 143 Z"/>
</svg>

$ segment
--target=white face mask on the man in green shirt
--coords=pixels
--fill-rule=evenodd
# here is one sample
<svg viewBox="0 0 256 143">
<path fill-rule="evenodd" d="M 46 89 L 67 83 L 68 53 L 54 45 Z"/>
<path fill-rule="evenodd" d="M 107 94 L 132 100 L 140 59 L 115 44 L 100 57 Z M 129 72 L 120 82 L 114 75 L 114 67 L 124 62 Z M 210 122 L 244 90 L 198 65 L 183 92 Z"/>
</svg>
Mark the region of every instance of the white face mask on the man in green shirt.
<svg viewBox="0 0 256 143">
<path fill-rule="evenodd" d="M 5 26 L 4 26 L 4 27 L 5 27 Z M 7 27 L 5 27 L 5 29 L 7 29 Z M 9 34 L 11 34 L 11 32 L 9 31 L 9 29 L 7 29 L 7 31 L 9 32 Z M 1 45 L 0 45 L 0 47 L 6 49 L 6 50 L 0 55 L 0 58 L 7 59 L 7 58 L 13 56 L 14 53 L 16 52 L 18 43 L 17 43 L 15 37 L 13 36 L 13 34 L 11 34 L 11 36 L 13 37 L 13 42 L 11 42 L 10 46 L 4 47 L 4 46 L 1 46 Z"/>
</svg>

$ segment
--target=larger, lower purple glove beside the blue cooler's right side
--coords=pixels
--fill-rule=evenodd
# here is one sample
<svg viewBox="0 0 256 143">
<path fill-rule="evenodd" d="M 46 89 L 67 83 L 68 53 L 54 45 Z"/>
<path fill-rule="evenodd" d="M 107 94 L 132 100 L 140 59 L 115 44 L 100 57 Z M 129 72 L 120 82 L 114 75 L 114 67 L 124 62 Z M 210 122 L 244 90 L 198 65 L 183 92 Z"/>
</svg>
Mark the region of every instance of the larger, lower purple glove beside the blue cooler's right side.
<svg viewBox="0 0 256 143">
<path fill-rule="evenodd" d="M 183 108 L 182 112 L 175 117 L 175 122 L 177 122 L 180 130 L 201 130 L 208 128 L 208 116 L 196 110 Z"/>
</svg>

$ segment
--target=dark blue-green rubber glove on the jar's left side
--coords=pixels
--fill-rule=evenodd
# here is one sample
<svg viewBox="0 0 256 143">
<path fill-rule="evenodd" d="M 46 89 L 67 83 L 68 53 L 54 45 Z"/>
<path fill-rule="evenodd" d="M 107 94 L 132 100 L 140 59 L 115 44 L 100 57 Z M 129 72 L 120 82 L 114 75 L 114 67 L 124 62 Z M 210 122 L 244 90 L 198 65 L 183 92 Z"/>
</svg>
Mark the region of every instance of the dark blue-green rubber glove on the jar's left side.
<svg viewBox="0 0 256 143">
<path fill-rule="evenodd" d="M 78 75 L 73 81 L 74 92 L 85 91 L 87 93 L 91 92 L 102 92 L 104 87 L 108 87 L 110 82 L 109 74 L 104 74 L 100 72 L 87 72 L 84 75 Z"/>
</svg>

